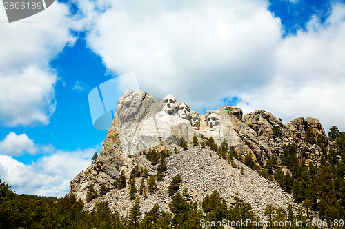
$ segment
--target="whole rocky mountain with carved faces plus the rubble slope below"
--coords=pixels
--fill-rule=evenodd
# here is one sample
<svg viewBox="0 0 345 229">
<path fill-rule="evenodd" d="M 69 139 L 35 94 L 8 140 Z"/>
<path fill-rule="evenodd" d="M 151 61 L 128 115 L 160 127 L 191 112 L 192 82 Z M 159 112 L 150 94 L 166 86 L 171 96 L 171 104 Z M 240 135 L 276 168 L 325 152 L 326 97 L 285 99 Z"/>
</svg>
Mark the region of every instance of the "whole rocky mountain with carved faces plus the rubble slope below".
<svg viewBox="0 0 345 229">
<path fill-rule="evenodd" d="M 98 193 L 102 185 L 106 186 L 110 192 L 91 201 L 87 208 L 95 201 L 107 199 L 111 208 L 121 208 L 126 214 L 132 205 L 128 190 L 114 188 L 120 173 L 123 172 L 128 181 L 132 169 L 139 166 L 147 168 L 148 175 L 156 175 L 157 165 L 152 164 L 143 152 L 150 148 L 173 152 L 176 147 L 181 153 L 173 153 L 166 159 L 166 176 L 158 183 L 159 191 L 141 201 L 143 209 L 150 210 L 155 202 L 166 206 L 170 201 L 168 183 L 177 174 L 182 177 L 183 187 L 190 190 L 191 198 L 199 203 L 213 190 L 218 190 L 228 203 L 234 201 L 235 196 L 248 201 L 259 215 L 267 203 L 284 208 L 292 203 L 293 198 L 279 186 L 240 161 L 235 160 L 237 168 L 233 168 L 210 149 L 191 146 L 194 136 L 199 141 L 212 137 L 218 145 L 226 139 L 239 154 L 252 155 L 257 166 L 262 168 L 273 155 L 280 162 L 284 145 L 294 145 L 297 157 L 315 164 L 319 163 L 322 152 L 328 152 L 330 148 L 324 129 L 315 118 L 299 117 L 285 124 L 270 112 L 255 110 L 243 115 L 235 106 L 208 110 L 205 115 L 199 115 L 172 95 L 158 101 L 146 92 L 126 91 L 118 101 L 115 119 L 98 159 L 71 181 L 70 193 L 86 201 L 91 184 Z M 186 151 L 178 146 L 181 138 L 188 142 Z M 238 169 L 242 166 L 244 174 Z"/>
</svg>

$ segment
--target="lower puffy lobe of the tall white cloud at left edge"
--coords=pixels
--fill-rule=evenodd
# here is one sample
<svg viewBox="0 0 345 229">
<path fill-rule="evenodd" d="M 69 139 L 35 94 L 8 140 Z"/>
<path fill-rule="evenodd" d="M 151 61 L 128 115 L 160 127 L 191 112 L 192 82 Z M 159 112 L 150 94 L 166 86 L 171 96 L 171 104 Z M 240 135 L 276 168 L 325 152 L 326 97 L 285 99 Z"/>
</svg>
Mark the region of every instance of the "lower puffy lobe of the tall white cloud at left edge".
<svg viewBox="0 0 345 229">
<path fill-rule="evenodd" d="M 20 74 L 0 72 L 0 117 L 6 126 L 48 124 L 55 112 L 55 74 L 29 66 Z"/>
</svg>

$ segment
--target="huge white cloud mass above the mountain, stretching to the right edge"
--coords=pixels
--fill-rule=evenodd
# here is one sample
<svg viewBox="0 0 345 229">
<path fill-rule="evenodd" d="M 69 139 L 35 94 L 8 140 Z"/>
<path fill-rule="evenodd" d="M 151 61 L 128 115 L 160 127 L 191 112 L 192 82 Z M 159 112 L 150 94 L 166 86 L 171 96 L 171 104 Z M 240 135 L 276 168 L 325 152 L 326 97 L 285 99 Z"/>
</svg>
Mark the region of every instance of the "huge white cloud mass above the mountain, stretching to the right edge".
<svg viewBox="0 0 345 229">
<path fill-rule="evenodd" d="M 248 112 L 312 116 L 345 129 L 344 4 L 283 38 L 264 0 L 78 2 L 91 15 L 88 46 L 113 72 L 135 71 L 141 90 L 175 94 L 198 111 L 238 96 Z"/>
</svg>

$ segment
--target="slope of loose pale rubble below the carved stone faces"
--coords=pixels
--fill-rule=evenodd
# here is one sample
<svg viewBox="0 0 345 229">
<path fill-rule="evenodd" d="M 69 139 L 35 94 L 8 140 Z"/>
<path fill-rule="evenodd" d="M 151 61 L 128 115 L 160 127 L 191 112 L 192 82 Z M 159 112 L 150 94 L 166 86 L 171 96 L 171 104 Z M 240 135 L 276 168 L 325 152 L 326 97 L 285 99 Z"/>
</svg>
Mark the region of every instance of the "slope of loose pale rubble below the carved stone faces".
<svg viewBox="0 0 345 229">
<path fill-rule="evenodd" d="M 168 196 L 168 186 L 175 175 L 181 175 L 182 183 L 179 192 L 182 194 L 188 189 L 190 200 L 197 202 L 201 208 L 206 195 L 214 190 L 219 192 L 221 198 L 228 206 L 234 206 L 235 197 L 239 197 L 246 203 L 250 203 L 257 216 L 264 217 L 264 208 L 267 204 L 286 209 L 289 204 L 294 209 L 297 204 L 293 197 L 284 192 L 277 183 L 268 181 L 257 172 L 245 166 L 242 162 L 234 160 L 237 168 L 233 168 L 226 160 L 210 149 L 200 146 L 188 146 L 188 150 L 179 152 L 166 158 L 168 170 L 162 181 L 157 181 L 157 190 L 148 193 L 148 197 L 140 197 L 141 212 L 148 212 L 155 203 L 159 203 L 162 210 L 169 211 L 168 205 L 171 198 Z M 244 173 L 240 168 L 244 168 Z M 141 178 L 136 179 L 137 190 L 141 184 Z M 145 181 L 146 187 L 148 186 Z M 108 201 L 110 209 L 117 210 L 121 215 L 128 215 L 133 206 L 133 200 L 129 198 L 129 186 L 122 190 L 111 190 L 108 194 L 92 200 L 86 206 L 86 210 L 92 210 L 98 201 Z"/>
</svg>

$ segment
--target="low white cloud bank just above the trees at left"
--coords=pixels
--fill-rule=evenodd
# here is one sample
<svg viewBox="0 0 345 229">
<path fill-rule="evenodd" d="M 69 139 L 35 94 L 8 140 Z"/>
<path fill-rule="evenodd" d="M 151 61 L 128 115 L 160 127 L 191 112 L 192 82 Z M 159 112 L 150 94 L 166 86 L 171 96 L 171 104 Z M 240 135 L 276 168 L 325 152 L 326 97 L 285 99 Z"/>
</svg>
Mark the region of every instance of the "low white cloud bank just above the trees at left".
<svg viewBox="0 0 345 229">
<path fill-rule="evenodd" d="M 90 165 L 93 148 L 72 152 L 57 150 L 26 165 L 8 155 L 0 155 L 0 178 L 17 193 L 63 197 L 70 181 Z"/>
</svg>

